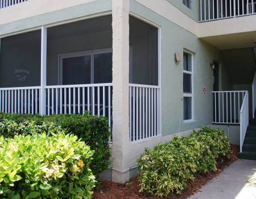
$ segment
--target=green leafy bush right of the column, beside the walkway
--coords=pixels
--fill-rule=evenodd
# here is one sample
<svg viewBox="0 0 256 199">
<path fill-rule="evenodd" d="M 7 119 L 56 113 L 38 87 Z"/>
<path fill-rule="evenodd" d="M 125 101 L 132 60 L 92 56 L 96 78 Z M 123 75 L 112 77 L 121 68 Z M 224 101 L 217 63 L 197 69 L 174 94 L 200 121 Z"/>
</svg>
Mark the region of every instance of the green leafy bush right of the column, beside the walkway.
<svg viewBox="0 0 256 199">
<path fill-rule="evenodd" d="M 166 197 L 181 193 L 197 172 L 216 171 L 216 160 L 228 157 L 229 138 L 222 130 L 202 127 L 191 136 L 159 144 L 145 150 L 137 160 L 139 190 Z"/>
</svg>

